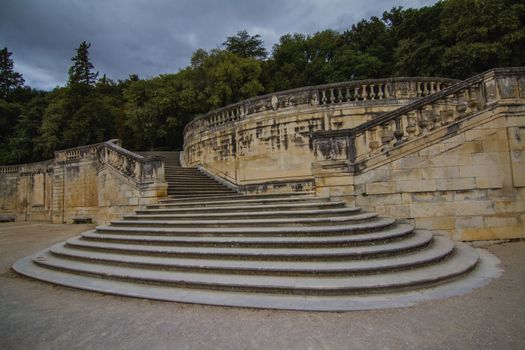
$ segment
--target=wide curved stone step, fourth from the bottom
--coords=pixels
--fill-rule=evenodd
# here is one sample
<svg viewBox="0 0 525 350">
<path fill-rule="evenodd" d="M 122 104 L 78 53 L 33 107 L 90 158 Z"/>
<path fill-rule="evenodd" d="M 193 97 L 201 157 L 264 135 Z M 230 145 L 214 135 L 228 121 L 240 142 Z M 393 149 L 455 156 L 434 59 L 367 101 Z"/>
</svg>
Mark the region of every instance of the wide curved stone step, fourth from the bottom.
<svg viewBox="0 0 525 350">
<path fill-rule="evenodd" d="M 431 233 L 416 231 L 416 234 L 406 239 L 384 244 L 327 248 L 177 247 L 95 242 L 83 240 L 79 237 L 68 239 L 66 245 L 76 249 L 119 252 L 120 254 L 128 255 L 205 257 L 207 259 L 234 260 L 341 260 L 402 254 L 426 247 L 431 242 Z"/>
</svg>

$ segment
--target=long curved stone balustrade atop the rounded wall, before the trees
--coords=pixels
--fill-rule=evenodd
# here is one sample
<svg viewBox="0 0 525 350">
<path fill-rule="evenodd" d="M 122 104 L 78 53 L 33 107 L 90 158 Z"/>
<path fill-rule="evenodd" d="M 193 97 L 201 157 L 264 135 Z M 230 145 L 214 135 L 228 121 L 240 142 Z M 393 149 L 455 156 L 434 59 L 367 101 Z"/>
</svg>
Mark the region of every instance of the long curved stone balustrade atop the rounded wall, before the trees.
<svg viewBox="0 0 525 350">
<path fill-rule="evenodd" d="M 210 128 L 242 120 L 252 114 L 286 107 L 331 106 L 345 103 L 378 102 L 429 96 L 453 85 L 457 80 L 445 78 L 389 78 L 355 80 L 309 86 L 254 97 L 201 115 L 188 123 L 184 139 Z"/>
</svg>

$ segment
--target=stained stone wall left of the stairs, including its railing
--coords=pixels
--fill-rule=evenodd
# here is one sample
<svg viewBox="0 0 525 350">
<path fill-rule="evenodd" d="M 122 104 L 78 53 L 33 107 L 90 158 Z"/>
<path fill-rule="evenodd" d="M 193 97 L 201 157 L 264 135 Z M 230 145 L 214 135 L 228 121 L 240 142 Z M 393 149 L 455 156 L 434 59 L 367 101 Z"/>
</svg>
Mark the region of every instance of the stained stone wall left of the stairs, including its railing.
<svg viewBox="0 0 525 350">
<path fill-rule="evenodd" d="M 166 195 L 162 161 L 122 149 L 117 140 L 0 167 L 0 213 L 16 220 L 104 224 Z"/>
</svg>

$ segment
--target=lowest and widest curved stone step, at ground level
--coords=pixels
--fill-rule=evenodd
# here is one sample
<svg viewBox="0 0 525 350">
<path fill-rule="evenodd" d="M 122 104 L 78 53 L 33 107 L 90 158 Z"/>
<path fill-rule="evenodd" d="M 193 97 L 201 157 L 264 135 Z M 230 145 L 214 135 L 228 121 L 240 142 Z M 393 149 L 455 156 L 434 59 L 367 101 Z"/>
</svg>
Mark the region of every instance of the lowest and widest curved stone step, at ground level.
<svg viewBox="0 0 525 350">
<path fill-rule="evenodd" d="M 459 245 L 458 248 L 461 250 L 464 244 L 456 243 L 456 245 Z M 481 259 L 476 268 L 468 274 L 447 280 L 446 283 L 433 283 L 412 291 L 376 291 L 345 296 L 224 292 L 106 280 L 39 267 L 32 261 L 32 258 L 39 253 L 18 260 L 13 265 L 13 270 L 46 283 L 124 297 L 227 307 L 342 312 L 408 307 L 422 301 L 442 299 L 444 296 L 463 295 L 474 288 L 486 285 L 501 274 L 501 270 L 497 267 L 499 260 L 487 251 L 479 249 L 478 251 Z"/>
</svg>

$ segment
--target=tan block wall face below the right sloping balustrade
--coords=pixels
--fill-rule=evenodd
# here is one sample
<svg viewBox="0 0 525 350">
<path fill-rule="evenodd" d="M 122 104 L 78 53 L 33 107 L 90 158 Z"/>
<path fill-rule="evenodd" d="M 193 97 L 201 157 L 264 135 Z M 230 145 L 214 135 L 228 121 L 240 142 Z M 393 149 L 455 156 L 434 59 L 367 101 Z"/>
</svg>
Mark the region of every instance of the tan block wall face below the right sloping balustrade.
<svg viewBox="0 0 525 350">
<path fill-rule="evenodd" d="M 407 152 L 354 176 L 353 200 L 456 240 L 525 238 L 524 125 L 498 113 Z"/>
</svg>

